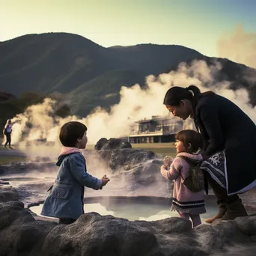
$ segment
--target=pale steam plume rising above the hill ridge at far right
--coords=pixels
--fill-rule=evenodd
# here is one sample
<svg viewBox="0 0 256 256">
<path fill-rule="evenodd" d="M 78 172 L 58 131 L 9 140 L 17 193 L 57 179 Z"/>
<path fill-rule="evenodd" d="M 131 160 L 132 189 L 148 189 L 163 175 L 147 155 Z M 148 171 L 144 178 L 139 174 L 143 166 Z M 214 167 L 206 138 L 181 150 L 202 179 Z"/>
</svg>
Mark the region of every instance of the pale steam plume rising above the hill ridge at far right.
<svg viewBox="0 0 256 256">
<path fill-rule="evenodd" d="M 217 44 L 219 57 L 256 68 L 256 33 L 244 31 L 243 25 L 238 25 L 222 38 Z"/>
</svg>

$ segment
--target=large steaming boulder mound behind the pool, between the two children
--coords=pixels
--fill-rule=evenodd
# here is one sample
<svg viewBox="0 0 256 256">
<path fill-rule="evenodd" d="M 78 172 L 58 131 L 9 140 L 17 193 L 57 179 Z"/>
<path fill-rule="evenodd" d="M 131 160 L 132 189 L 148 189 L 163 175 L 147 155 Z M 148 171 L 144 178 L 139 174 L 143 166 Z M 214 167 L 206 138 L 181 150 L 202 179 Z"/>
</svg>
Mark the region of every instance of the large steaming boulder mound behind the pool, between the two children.
<svg viewBox="0 0 256 256">
<path fill-rule="evenodd" d="M 100 144 L 103 144 L 103 147 L 100 147 Z M 123 138 L 110 138 L 108 141 L 106 138 L 101 138 L 95 147 L 100 148 L 97 153 L 108 163 L 112 179 L 120 178 L 121 175 L 133 185 L 144 186 L 150 186 L 156 183 L 156 180 L 160 180 L 162 186 L 170 183 L 159 172 L 162 159 L 150 150 L 133 149 Z M 167 187 L 169 192 L 170 186 Z"/>
</svg>

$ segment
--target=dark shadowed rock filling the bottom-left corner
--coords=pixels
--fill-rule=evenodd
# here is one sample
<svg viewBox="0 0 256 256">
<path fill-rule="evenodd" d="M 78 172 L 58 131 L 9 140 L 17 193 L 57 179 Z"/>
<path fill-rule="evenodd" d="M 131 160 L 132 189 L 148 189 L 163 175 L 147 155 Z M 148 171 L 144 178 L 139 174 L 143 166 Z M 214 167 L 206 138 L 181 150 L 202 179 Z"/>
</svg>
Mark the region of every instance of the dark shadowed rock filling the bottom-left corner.
<svg viewBox="0 0 256 256">
<path fill-rule="evenodd" d="M 40 255 L 54 222 L 35 221 L 22 202 L 0 204 L 0 256 Z"/>
</svg>

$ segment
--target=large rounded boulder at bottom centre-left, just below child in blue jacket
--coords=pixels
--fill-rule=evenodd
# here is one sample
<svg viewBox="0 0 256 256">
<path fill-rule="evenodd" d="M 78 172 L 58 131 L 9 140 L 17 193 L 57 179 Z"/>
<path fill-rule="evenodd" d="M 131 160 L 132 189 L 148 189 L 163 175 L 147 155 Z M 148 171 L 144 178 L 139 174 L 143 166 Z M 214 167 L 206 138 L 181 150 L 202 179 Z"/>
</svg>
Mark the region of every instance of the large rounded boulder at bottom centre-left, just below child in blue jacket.
<svg viewBox="0 0 256 256">
<path fill-rule="evenodd" d="M 46 237 L 43 255 L 153 255 L 156 236 L 147 230 L 113 216 L 89 213 L 72 225 L 59 225 Z"/>
</svg>

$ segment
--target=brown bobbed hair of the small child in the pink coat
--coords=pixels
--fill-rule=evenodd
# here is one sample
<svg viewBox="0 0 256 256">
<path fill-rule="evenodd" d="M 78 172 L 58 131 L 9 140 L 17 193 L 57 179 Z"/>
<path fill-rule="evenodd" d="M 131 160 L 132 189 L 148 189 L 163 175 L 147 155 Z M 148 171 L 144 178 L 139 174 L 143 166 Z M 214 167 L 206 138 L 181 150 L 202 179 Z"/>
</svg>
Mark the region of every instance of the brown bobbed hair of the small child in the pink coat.
<svg viewBox="0 0 256 256">
<path fill-rule="evenodd" d="M 183 142 L 186 150 L 191 151 L 192 153 L 198 151 L 203 147 L 203 139 L 199 132 L 196 132 L 194 129 L 183 129 L 180 132 L 177 132 L 176 139 Z M 189 146 L 191 145 L 191 150 Z"/>
</svg>

